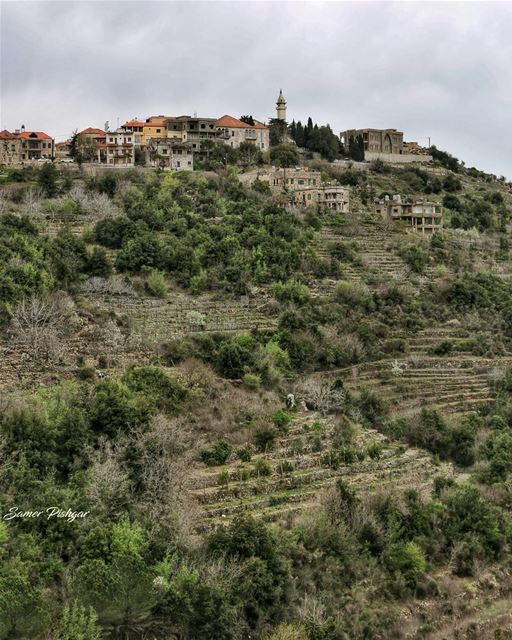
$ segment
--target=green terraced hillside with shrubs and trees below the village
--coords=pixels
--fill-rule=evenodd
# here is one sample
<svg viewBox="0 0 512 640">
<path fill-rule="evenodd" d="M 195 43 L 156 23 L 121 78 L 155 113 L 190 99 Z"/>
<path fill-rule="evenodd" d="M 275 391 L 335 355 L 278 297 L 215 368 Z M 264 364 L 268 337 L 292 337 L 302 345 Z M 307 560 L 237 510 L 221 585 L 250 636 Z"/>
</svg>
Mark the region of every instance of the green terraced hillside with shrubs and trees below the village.
<svg viewBox="0 0 512 640">
<path fill-rule="evenodd" d="M 511 186 L 308 163 L 0 175 L 0 639 L 512 637 Z"/>
</svg>

